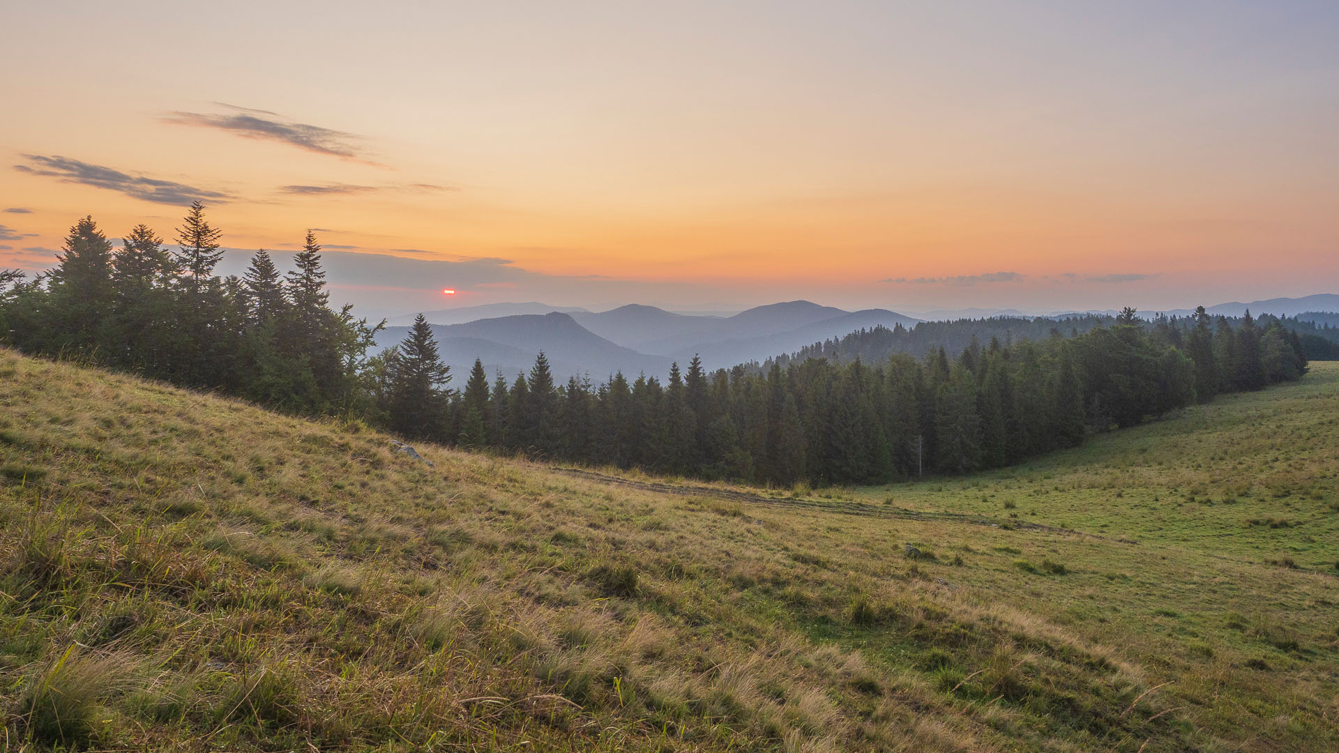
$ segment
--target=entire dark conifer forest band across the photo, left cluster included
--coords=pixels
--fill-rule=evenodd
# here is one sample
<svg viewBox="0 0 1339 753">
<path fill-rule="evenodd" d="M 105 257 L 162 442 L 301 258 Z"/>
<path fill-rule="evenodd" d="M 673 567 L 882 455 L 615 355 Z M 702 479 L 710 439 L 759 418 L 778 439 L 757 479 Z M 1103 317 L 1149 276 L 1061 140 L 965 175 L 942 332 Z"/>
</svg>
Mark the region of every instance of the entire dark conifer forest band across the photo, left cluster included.
<svg viewBox="0 0 1339 753">
<path fill-rule="evenodd" d="M 786 485 L 1014 464 L 1089 431 L 1297 379 L 1304 338 L 1328 332 L 1249 314 L 1214 319 L 1202 307 L 1144 322 L 1127 308 L 1063 323 L 876 328 L 766 367 L 707 372 L 694 358 L 665 382 L 557 383 L 540 352 L 514 382 L 490 383 L 475 362 L 453 389 L 422 315 L 399 346 L 367 355 L 380 326 L 328 307 L 312 233 L 296 269 L 281 275 L 260 251 L 241 277 L 213 273 L 220 230 L 198 202 L 175 238 L 169 251 L 139 225 L 112 248 L 91 217 L 80 220 L 56 268 L 32 281 L 0 273 L 0 339 L 469 449 Z M 905 352 L 916 348 L 924 358 Z"/>
</svg>

